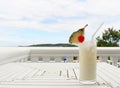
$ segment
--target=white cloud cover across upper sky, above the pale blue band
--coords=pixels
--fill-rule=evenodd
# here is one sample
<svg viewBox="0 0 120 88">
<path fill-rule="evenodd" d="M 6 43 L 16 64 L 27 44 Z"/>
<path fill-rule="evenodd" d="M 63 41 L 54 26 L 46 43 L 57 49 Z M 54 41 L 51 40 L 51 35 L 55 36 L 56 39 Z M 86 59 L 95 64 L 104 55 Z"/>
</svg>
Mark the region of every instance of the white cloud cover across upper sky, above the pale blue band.
<svg viewBox="0 0 120 88">
<path fill-rule="evenodd" d="M 119 3 L 120 0 L 0 0 L 0 30 L 6 30 L 8 35 L 13 29 L 68 35 L 88 23 L 89 39 L 102 22 L 97 35 L 111 26 L 119 29 Z"/>
</svg>

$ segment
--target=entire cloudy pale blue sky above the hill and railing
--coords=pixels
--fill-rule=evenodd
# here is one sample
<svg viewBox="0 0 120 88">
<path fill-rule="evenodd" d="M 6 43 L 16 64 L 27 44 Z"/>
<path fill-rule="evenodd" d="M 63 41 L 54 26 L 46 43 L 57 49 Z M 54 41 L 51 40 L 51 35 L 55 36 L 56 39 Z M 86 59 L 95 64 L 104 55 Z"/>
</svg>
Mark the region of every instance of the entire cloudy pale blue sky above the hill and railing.
<svg viewBox="0 0 120 88">
<path fill-rule="evenodd" d="M 104 23 L 120 29 L 120 0 L 0 0 L 0 46 L 69 43 L 72 32 L 88 24 L 85 40 Z"/>
</svg>

